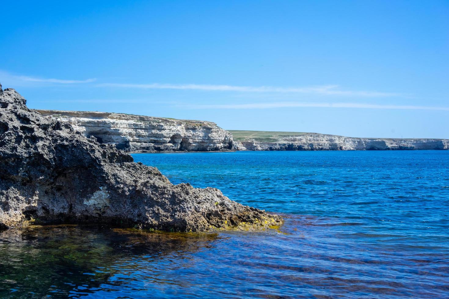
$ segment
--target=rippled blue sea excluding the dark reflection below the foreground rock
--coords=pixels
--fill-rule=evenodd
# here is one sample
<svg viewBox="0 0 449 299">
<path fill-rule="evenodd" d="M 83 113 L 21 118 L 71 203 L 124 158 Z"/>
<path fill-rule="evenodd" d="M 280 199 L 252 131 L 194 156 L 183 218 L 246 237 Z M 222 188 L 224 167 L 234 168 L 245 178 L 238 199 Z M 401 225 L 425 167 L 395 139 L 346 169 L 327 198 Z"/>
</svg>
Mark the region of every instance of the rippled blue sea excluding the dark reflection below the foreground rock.
<svg viewBox="0 0 449 299">
<path fill-rule="evenodd" d="M 287 217 L 285 234 L 223 233 L 193 255 L 195 293 L 449 297 L 449 152 L 133 156 Z"/>
</svg>

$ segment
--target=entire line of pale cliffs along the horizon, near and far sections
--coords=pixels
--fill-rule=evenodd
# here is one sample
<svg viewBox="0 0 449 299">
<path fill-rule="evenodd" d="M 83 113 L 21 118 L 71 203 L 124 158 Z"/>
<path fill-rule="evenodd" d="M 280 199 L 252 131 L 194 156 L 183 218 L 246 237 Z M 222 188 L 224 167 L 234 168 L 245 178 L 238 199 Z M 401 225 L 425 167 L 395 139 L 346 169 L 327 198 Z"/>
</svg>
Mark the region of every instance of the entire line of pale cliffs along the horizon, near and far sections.
<svg viewBox="0 0 449 299">
<path fill-rule="evenodd" d="M 449 149 L 448 139 L 357 138 L 305 132 L 223 130 L 210 121 L 123 113 L 35 110 L 125 152 Z"/>
</svg>

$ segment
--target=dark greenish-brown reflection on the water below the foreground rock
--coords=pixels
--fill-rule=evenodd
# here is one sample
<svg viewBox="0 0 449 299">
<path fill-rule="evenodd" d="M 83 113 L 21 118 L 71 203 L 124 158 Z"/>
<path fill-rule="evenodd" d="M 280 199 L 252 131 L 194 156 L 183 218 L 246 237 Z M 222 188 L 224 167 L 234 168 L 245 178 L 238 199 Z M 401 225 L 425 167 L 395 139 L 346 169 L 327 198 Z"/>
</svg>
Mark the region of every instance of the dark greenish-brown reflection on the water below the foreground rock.
<svg viewBox="0 0 449 299">
<path fill-rule="evenodd" d="M 210 247 L 216 239 L 216 234 L 81 225 L 5 230 L 0 233 L 0 298 L 77 297 L 122 286 L 132 291 L 133 280 L 143 273 L 148 283 L 176 285 L 160 277 L 154 266 L 171 259 L 179 266 L 188 263 L 189 254 Z"/>
</svg>

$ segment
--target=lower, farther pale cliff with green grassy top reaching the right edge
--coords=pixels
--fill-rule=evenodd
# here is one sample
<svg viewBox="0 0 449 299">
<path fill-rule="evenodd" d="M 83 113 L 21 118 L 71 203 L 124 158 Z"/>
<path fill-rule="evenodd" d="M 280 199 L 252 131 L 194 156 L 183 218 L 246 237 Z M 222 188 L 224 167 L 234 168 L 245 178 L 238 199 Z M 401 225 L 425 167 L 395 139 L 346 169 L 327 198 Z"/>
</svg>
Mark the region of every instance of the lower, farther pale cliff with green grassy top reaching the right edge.
<svg viewBox="0 0 449 299">
<path fill-rule="evenodd" d="M 355 138 L 304 132 L 230 131 L 239 150 L 447 150 L 449 139 Z"/>
</svg>

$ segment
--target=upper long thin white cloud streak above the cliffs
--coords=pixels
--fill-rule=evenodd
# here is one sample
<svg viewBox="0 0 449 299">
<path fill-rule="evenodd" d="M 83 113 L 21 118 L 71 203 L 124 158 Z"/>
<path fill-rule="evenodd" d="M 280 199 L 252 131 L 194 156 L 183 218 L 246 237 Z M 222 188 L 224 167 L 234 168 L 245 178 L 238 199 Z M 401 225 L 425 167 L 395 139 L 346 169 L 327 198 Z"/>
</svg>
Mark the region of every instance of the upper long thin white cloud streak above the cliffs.
<svg viewBox="0 0 449 299">
<path fill-rule="evenodd" d="M 401 96 L 401 93 L 378 91 L 343 91 L 336 89 L 338 85 L 312 86 L 312 87 L 273 87 L 273 86 L 233 86 L 233 85 L 207 85 L 207 84 L 126 84 L 103 83 L 98 87 L 123 87 L 139 89 L 180 89 L 200 91 L 240 91 L 240 92 L 275 92 L 275 93 L 307 93 L 321 95 L 346 95 L 363 97 Z"/>
</svg>

